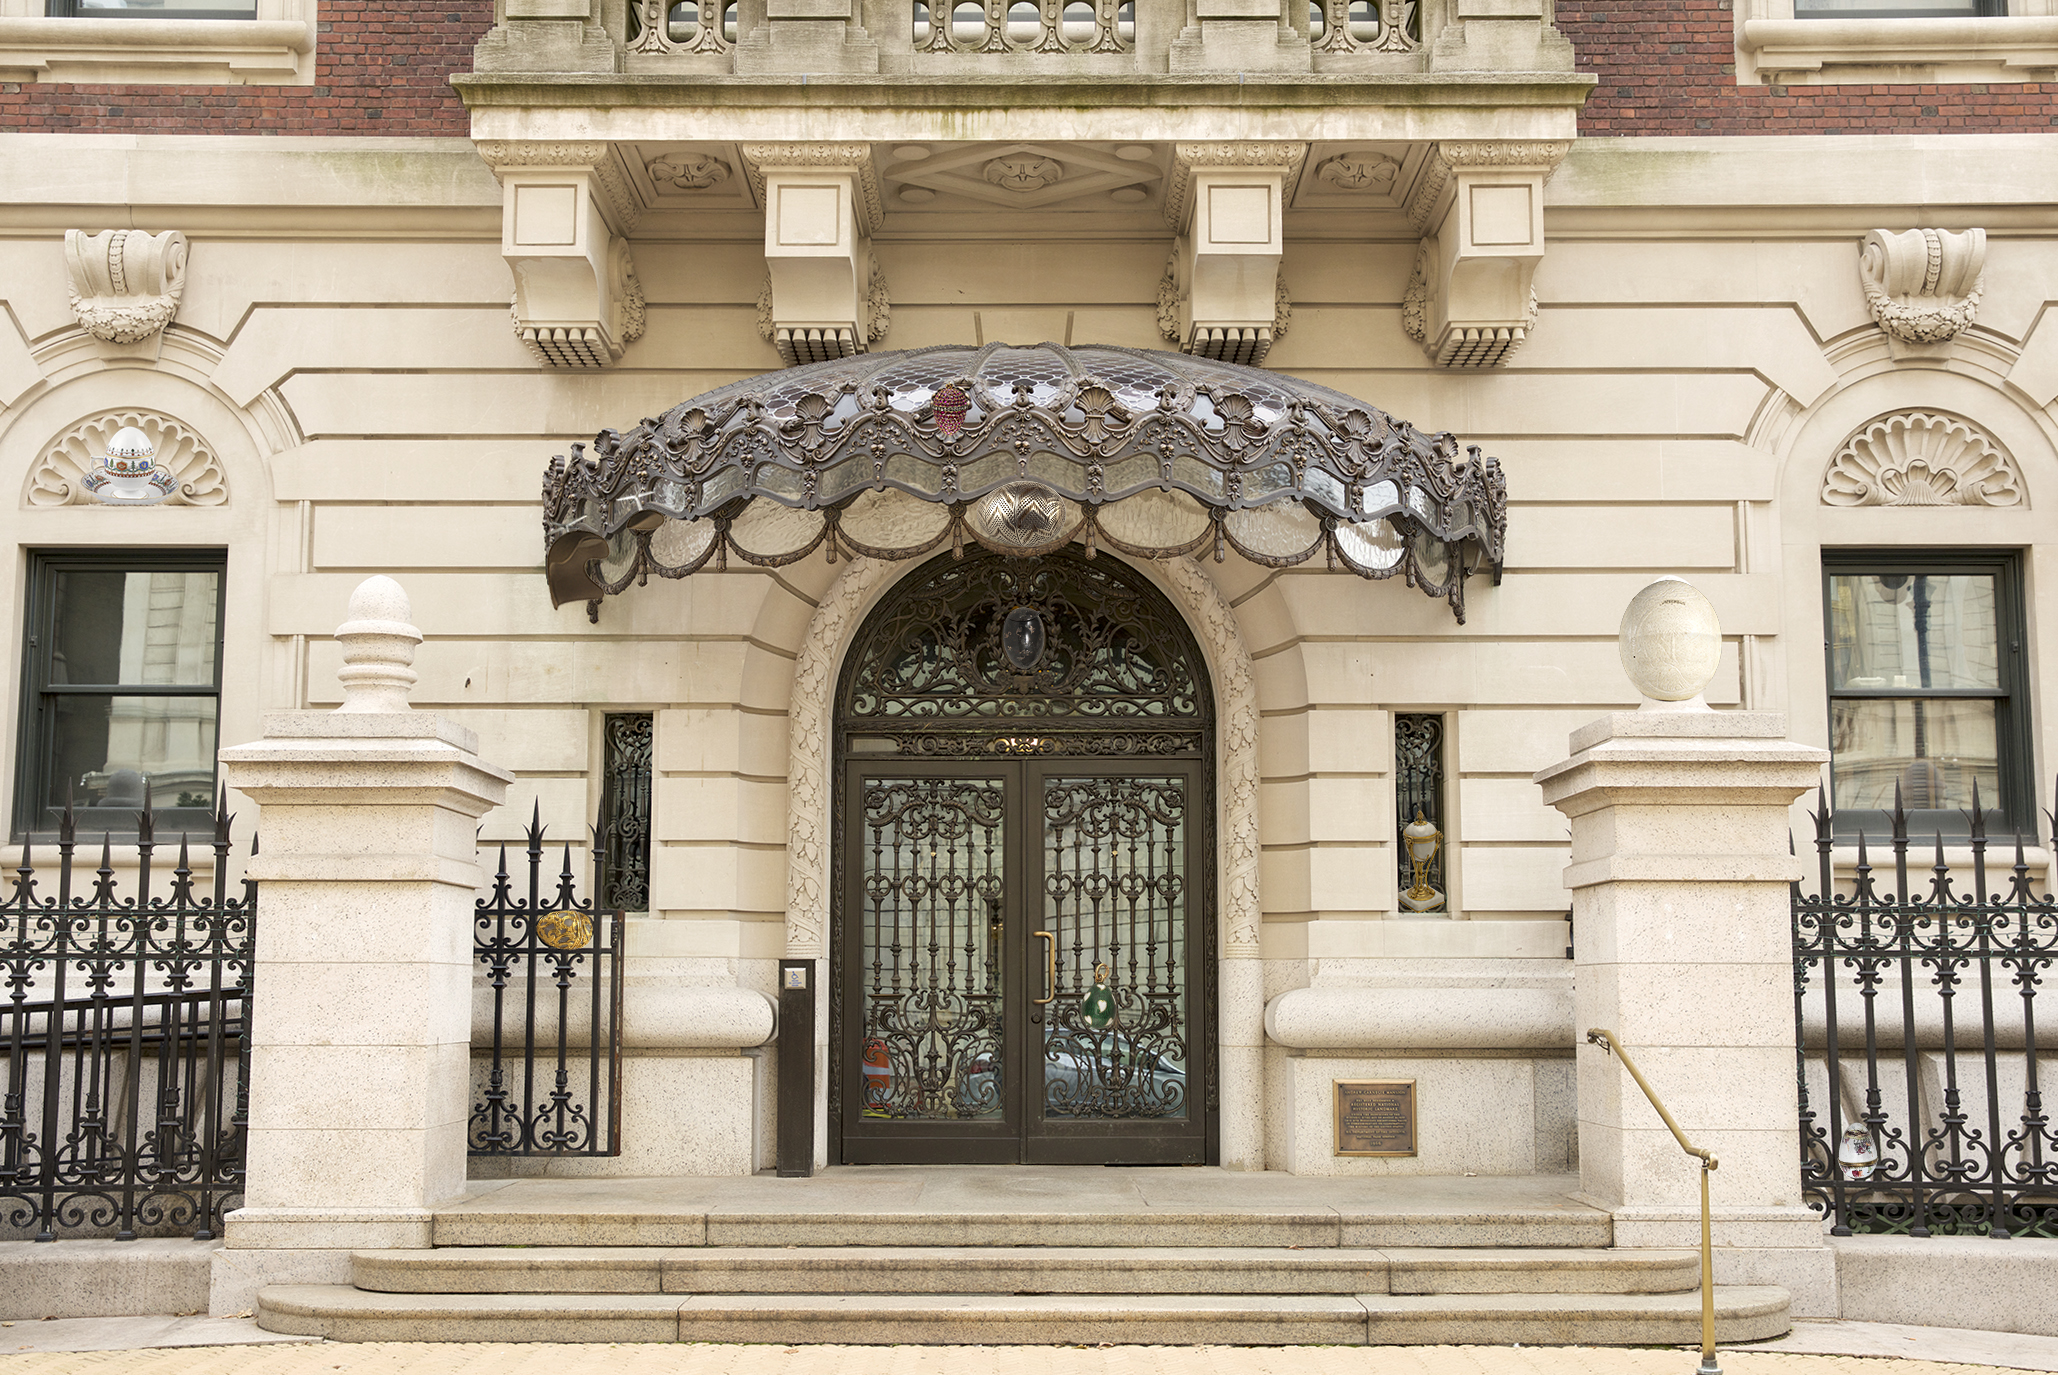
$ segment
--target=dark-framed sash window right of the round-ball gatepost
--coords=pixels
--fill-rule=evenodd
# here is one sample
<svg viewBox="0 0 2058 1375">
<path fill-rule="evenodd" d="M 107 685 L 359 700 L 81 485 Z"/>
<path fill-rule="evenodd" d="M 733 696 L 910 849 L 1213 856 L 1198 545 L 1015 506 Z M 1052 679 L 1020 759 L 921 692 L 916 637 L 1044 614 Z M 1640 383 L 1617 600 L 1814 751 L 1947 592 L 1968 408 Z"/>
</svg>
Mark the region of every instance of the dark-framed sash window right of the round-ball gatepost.
<svg viewBox="0 0 2058 1375">
<path fill-rule="evenodd" d="M 1830 788 L 1838 834 L 2029 827 L 2029 696 L 2015 554 L 1823 552 Z"/>
</svg>

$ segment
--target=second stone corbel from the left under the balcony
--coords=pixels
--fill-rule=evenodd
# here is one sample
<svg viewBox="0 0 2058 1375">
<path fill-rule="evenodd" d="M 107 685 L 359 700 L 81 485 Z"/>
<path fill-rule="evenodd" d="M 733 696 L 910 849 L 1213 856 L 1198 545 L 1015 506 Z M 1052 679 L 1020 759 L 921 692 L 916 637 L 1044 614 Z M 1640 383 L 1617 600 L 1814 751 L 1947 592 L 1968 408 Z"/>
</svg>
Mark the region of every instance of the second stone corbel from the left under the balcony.
<svg viewBox="0 0 2058 1375">
<path fill-rule="evenodd" d="M 879 175 L 868 144 L 745 144 L 766 208 L 766 290 L 757 329 L 786 366 L 850 358 L 891 323 L 873 257 Z"/>
</svg>

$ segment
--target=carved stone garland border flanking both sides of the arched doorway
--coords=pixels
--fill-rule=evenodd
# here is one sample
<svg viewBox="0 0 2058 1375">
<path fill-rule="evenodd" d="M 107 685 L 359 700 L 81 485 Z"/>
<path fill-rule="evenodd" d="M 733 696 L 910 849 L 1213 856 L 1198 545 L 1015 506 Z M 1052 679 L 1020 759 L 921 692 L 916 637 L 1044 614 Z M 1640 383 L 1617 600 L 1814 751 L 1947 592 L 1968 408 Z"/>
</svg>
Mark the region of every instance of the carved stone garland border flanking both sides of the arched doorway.
<svg viewBox="0 0 2058 1375">
<path fill-rule="evenodd" d="M 1257 957 L 1257 690 L 1235 611 L 1190 558 L 1155 566 L 1169 585 L 1214 675 L 1220 731 L 1222 955 Z M 829 735 L 836 675 L 893 564 L 852 560 L 809 618 L 792 667 L 786 757 L 786 955 L 821 959 L 829 928 Z"/>
</svg>

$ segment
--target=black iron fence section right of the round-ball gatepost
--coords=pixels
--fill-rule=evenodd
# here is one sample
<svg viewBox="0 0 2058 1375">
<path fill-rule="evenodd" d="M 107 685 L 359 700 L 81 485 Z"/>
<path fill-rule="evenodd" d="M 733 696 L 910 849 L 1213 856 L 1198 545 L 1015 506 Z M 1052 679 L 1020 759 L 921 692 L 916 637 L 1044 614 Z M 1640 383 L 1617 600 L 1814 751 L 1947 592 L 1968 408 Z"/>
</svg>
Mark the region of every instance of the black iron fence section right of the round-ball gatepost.
<svg viewBox="0 0 2058 1375">
<path fill-rule="evenodd" d="M 1908 836 L 1895 792 L 1885 887 L 1862 836 L 1840 883 L 1832 825 L 1819 799 L 1817 887 L 1793 893 L 1809 1204 L 1840 1237 L 2058 1235 L 2058 1132 L 2037 1081 L 2058 902 L 2029 879 L 2033 838 L 2002 842 L 2013 862 L 1990 873 L 1974 790 L 1955 869 L 1941 836 Z"/>
</svg>

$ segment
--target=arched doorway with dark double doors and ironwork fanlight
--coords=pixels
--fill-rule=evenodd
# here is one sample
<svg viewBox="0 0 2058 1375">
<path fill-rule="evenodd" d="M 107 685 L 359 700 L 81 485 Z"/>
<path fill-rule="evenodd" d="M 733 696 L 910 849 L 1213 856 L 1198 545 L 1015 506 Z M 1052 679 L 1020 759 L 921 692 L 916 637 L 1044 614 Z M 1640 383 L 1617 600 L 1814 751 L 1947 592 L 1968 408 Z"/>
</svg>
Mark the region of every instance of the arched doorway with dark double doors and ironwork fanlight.
<svg viewBox="0 0 2058 1375">
<path fill-rule="evenodd" d="M 1113 558 L 938 556 L 836 694 L 844 1163 L 1216 1157 L 1214 698 Z"/>
</svg>

